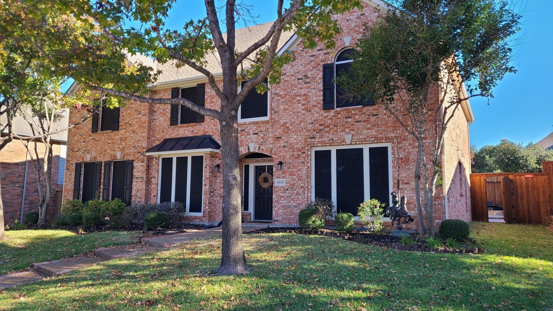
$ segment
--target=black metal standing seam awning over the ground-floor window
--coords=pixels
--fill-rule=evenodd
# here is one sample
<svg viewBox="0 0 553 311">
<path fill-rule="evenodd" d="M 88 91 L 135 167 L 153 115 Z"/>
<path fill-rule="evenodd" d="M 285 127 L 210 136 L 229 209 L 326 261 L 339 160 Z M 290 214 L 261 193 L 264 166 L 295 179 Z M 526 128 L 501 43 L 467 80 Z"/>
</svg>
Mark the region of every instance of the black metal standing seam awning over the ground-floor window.
<svg viewBox="0 0 553 311">
<path fill-rule="evenodd" d="M 219 152 L 221 144 L 211 135 L 165 138 L 146 151 L 146 155 L 165 155 L 191 152 Z"/>
</svg>

